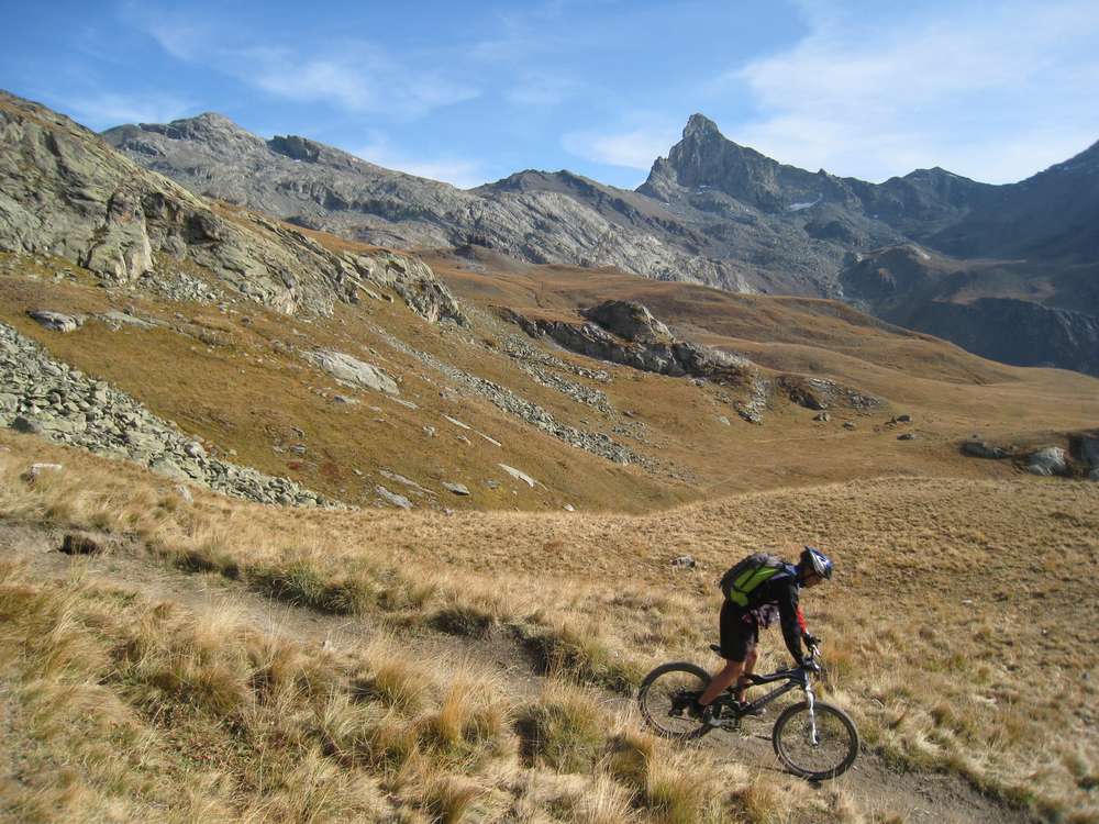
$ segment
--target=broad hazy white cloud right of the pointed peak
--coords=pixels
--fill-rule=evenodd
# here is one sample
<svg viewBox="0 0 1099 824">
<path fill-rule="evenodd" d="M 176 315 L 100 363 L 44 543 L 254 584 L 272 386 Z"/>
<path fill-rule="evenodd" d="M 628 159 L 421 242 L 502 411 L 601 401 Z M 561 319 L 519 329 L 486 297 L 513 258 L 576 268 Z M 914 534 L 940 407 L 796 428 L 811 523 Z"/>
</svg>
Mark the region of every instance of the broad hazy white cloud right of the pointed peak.
<svg viewBox="0 0 1099 824">
<path fill-rule="evenodd" d="M 1090 0 L 910 11 L 869 22 L 804 3 L 810 34 L 733 69 L 762 114 L 733 140 L 786 163 L 882 179 L 940 165 L 1018 180 L 1099 136 L 1099 16 Z"/>
</svg>

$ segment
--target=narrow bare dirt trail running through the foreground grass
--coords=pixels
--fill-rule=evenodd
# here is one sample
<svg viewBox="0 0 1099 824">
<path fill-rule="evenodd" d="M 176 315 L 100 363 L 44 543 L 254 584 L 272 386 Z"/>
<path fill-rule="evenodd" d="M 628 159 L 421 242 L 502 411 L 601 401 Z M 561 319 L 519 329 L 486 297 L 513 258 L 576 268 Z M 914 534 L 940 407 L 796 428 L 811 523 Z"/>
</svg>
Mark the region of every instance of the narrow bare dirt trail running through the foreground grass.
<svg viewBox="0 0 1099 824">
<path fill-rule="evenodd" d="M 502 633 L 476 641 L 431 631 L 396 632 L 371 616 L 333 616 L 273 601 L 246 587 L 213 575 L 193 575 L 167 567 L 144 547 L 116 539 L 101 556 L 71 557 L 58 552 L 64 532 L 38 524 L 0 519 L 0 561 L 20 561 L 42 578 L 62 579 L 80 572 L 89 580 L 133 589 L 152 601 L 169 601 L 192 610 L 226 606 L 247 623 L 273 635 L 303 644 L 336 648 L 365 646 L 377 634 L 395 635 L 400 645 L 430 667 L 432 661 L 464 662 L 492 672 L 502 690 L 522 700 L 536 694 L 543 678 L 520 645 Z M 608 697 L 609 704 L 625 709 L 631 701 Z M 770 745 L 774 714 L 747 720 L 741 734 L 715 731 L 702 748 L 770 773 L 788 786 L 801 783 L 786 773 Z M 1037 820 L 975 791 L 955 775 L 898 773 L 873 753 L 859 755 L 855 766 L 832 782 L 854 799 L 872 820 L 983 824 L 1030 824 Z M 824 791 L 822 788 L 821 791 Z M 826 821 L 826 820 L 822 820 Z"/>
</svg>

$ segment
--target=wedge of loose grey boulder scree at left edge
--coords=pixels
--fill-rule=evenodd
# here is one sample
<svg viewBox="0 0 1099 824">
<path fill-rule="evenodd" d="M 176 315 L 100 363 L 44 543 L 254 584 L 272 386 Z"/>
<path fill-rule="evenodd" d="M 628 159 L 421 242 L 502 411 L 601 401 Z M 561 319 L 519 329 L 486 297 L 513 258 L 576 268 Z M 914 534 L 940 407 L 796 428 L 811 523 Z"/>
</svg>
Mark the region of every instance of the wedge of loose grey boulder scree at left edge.
<svg viewBox="0 0 1099 824">
<path fill-rule="evenodd" d="M 329 504 L 288 478 L 207 455 L 195 438 L 123 392 L 51 358 L 0 323 L 0 426 L 126 458 L 171 479 L 260 503 Z"/>
</svg>

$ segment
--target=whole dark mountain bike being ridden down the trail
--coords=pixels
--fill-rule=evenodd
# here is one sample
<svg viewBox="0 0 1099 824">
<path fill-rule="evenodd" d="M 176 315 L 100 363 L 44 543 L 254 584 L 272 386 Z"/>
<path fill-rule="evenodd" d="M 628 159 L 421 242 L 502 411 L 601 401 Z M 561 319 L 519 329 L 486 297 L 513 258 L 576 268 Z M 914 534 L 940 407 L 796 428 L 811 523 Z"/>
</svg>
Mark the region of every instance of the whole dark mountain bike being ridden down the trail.
<svg viewBox="0 0 1099 824">
<path fill-rule="evenodd" d="M 720 655 L 720 647 L 710 647 Z M 806 664 L 766 676 L 748 676 L 750 686 L 785 682 L 743 706 L 737 705 L 733 688 L 711 704 L 718 726 L 692 715 L 693 702 L 710 683 L 710 675 L 696 664 L 663 664 L 642 681 L 637 691 L 641 714 L 659 735 L 679 741 L 701 738 L 711 730 L 739 731 L 741 720 L 757 715 L 764 706 L 791 690 L 801 689 L 804 700 L 787 706 L 775 720 L 770 738 L 775 754 L 790 772 L 811 781 L 825 781 L 846 772 L 858 756 L 858 731 L 847 714 L 832 704 L 818 701 L 812 675 L 820 672 L 820 648 L 809 647 Z"/>
</svg>

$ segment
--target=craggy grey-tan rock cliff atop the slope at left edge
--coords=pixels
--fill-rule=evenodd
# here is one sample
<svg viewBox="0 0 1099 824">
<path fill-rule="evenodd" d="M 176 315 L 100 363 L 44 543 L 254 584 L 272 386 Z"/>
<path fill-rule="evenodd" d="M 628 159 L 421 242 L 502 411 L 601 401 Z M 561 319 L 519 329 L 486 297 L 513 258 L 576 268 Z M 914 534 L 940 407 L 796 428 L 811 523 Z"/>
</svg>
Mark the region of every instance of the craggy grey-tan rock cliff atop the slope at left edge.
<svg viewBox="0 0 1099 824">
<path fill-rule="evenodd" d="M 179 134 L 208 134 L 218 123 Z M 245 298 L 286 314 L 331 314 L 366 283 L 396 291 L 425 320 L 465 318 L 422 261 L 337 254 L 298 231 L 215 207 L 151 174 L 48 109 L 0 93 L 0 249 L 57 255 L 107 285 L 184 299 Z M 207 275 L 210 285 L 201 283 Z"/>
</svg>

